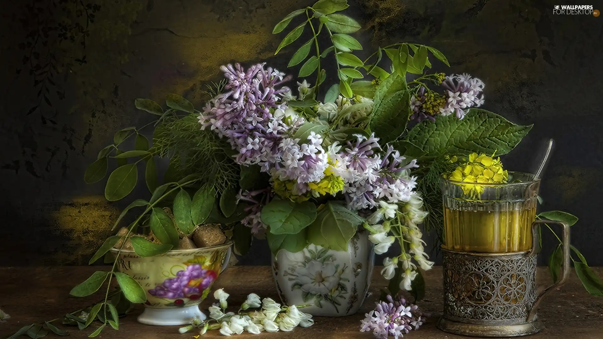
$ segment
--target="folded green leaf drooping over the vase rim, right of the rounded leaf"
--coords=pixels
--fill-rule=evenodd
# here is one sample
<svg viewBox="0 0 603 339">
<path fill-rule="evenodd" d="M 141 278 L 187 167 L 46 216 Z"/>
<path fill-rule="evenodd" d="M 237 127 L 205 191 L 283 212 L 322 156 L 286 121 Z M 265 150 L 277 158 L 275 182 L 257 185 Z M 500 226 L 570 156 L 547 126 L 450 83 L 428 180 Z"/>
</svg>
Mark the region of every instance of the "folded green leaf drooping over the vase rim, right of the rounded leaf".
<svg viewBox="0 0 603 339">
<path fill-rule="evenodd" d="M 342 204 L 328 201 L 308 227 L 308 241 L 327 249 L 347 251 L 348 242 L 362 221 Z"/>
</svg>

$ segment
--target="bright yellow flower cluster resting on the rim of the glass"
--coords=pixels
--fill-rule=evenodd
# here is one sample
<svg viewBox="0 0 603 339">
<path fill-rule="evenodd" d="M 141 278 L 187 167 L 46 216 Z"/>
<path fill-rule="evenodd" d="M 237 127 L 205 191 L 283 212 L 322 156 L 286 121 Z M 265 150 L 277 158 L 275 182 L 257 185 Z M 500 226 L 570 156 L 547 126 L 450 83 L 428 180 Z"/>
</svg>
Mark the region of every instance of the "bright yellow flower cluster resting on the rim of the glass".
<svg viewBox="0 0 603 339">
<path fill-rule="evenodd" d="M 457 166 L 452 173 L 444 174 L 444 178 L 456 182 L 467 182 L 470 184 L 463 185 L 465 194 L 479 195 L 484 192 L 484 186 L 475 185 L 475 183 L 506 183 L 509 179 L 509 174 L 502 166 L 500 157 L 494 159 L 493 156 L 486 154 L 472 153 L 467 157 L 467 162 Z M 450 162 L 456 162 L 458 159 L 452 157 Z"/>
</svg>

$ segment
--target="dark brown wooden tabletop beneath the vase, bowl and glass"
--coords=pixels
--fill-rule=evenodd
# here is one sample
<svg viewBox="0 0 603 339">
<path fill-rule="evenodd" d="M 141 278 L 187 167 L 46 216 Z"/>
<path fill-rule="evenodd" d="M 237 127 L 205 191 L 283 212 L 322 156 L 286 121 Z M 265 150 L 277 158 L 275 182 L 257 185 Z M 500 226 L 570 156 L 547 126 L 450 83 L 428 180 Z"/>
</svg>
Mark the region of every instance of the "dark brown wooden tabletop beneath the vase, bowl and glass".
<svg viewBox="0 0 603 339">
<path fill-rule="evenodd" d="M 74 285 L 87 279 L 99 267 L 5 267 L 0 268 L 0 309 L 11 315 L 10 320 L 0 323 L 0 338 L 12 335 L 22 326 L 31 323 L 42 323 L 44 320 L 61 317 L 67 312 L 83 308 L 100 299 L 98 295 L 86 298 L 69 296 Z M 267 333 L 265 338 L 373 338 L 372 334 L 359 332 L 359 324 L 364 314 L 373 308 L 379 297 L 379 288 L 385 287 L 386 280 L 380 276 L 376 268 L 370 287 L 370 296 L 356 315 L 349 317 L 315 317 L 315 325 L 310 328 L 296 328 L 292 332 Z M 601 276 L 603 268 L 595 268 Z M 572 272 L 573 273 L 573 272 Z M 413 339 L 457 339 L 469 338 L 447 334 L 435 328 L 442 309 L 441 268 L 435 267 L 425 274 L 427 292 L 425 300 L 419 303 L 432 317 L 418 331 L 411 331 L 405 338 Z M 538 283 L 551 282 L 546 268 L 538 268 Z M 240 305 L 248 293 L 257 293 L 260 297 L 272 297 L 278 300 L 270 267 L 268 266 L 235 266 L 228 268 L 216 282 L 215 288 L 224 288 L 230 293 L 230 305 Z M 211 296 L 203 302 L 202 308 L 207 309 L 213 302 Z M 197 333 L 178 334 L 178 326 L 148 326 L 136 322 L 137 314 L 142 306 L 136 305 L 127 317 L 120 319 L 119 330 L 109 326 L 98 338 L 191 338 Z M 530 336 L 537 338 L 572 338 L 572 339 L 603 339 L 603 297 L 594 297 L 586 293 L 575 274 L 569 282 L 554 291 L 545 299 L 540 308 L 540 317 L 545 322 L 546 330 Z M 67 326 L 69 338 L 87 338 L 98 326 L 79 331 Z M 252 337 L 251 334 L 238 337 Z M 222 337 L 218 331 L 209 331 L 205 337 Z M 27 336 L 22 338 L 28 338 Z M 58 338 L 49 334 L 46 338 Z"/>
</svg>

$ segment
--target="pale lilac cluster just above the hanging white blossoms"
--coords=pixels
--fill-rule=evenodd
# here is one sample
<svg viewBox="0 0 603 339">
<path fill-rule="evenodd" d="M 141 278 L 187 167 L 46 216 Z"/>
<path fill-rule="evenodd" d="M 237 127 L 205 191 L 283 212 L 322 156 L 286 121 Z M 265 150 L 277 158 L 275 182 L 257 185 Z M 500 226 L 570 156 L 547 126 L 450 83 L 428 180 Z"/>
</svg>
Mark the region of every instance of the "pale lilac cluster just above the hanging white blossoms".
<svg viewBox="0 0 603 339">
<path fill-rule="evenodd" d="M 417 185 L 416 177 L 409 177 L 406 170 L 418 167 L 417 160 L 403 164 L 405 157 L 388 146 L 384 156 L 377 154 L 380 146 L 378 138 L 357 135 L 355 143 L 341 154 L 348 164 L 344 193 L 348 206 L 353 210 L 371 209 L 379 205 L 379 199 L 388 203 L 409 201 L 412 190 Z"/>
</svg>

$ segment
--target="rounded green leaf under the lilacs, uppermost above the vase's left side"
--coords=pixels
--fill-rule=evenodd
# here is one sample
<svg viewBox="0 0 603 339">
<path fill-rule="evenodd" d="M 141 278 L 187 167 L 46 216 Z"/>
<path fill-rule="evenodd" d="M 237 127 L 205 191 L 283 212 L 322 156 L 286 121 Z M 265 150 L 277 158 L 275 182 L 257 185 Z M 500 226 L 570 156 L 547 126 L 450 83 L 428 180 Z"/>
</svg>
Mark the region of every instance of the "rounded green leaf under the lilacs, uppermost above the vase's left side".
<svg viewBox="0 0 603 339">
<path fill-rule="evenodd" d="M 294 203 L 273 200 L 262 208 L 262 223 L 270 226 L 273 234 L 294 234 L 300 232 L 316 218 L 316 206 L 310 201 Z"/>
</svg>

